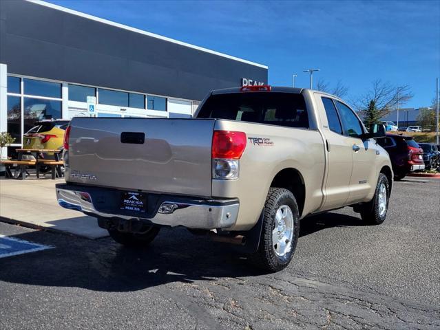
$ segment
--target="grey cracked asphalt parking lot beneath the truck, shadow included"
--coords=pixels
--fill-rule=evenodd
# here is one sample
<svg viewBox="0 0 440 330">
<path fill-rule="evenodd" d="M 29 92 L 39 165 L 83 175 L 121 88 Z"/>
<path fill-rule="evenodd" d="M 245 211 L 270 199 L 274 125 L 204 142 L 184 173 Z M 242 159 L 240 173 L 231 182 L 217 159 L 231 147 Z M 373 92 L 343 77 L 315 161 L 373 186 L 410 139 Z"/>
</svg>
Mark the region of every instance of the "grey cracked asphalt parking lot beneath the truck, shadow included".
<svg viewBox="0 0 440 330">
<path fill-rule="evenodd" d="M 440 180 L 395 182 L 385 223 L 301 223 L 260 274 L 222 243 L 163 230 L 148 250 L 0 223 L 54 248 L 0 259 L 0 329 L 439 329 Z"/>
</svg>

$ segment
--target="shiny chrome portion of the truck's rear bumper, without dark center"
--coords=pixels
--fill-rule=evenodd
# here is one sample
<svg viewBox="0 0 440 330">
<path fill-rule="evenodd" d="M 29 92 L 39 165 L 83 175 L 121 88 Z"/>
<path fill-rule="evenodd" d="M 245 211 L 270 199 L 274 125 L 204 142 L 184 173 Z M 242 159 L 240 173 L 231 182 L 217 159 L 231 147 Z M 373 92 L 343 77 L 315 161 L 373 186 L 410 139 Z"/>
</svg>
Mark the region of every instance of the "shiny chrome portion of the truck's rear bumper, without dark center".
<svg viewBox="0 0 440 330">
<path fill-rule="evenodd" d="M 87 197 L 88 196 L 88 197 Z M 147 220 L 156 225 L 186 228 L 218 229 L 235 225 L 238 217 L 238 201 L 216 199 L 203 200 L 198 203 L 182 203 L 181 201 L 162 201 L 153 217 L 133 217 L 124 214 L 100 212 L 93 205 L 92 196 L 87 191 L 56 188 L 56 199 L 63 208 L 78 210 L 94 217 L 118 218 L 125 220 Z"/>
</svg>

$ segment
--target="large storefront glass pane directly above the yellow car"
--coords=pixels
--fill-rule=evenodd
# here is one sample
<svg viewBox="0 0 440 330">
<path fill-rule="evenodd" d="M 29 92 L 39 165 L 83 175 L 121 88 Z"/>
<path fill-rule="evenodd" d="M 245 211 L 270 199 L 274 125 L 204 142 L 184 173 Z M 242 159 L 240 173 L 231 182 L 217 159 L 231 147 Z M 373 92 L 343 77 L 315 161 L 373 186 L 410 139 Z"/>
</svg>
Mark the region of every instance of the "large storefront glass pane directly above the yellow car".
<svg viewBox="0 0 440 330">
<path fill-rule="evenodd" d="M 32 129 L 36 121 L 61 118 L 61 101 L 24 98 L 23 105 L 25 132 Z"/>
</svg>

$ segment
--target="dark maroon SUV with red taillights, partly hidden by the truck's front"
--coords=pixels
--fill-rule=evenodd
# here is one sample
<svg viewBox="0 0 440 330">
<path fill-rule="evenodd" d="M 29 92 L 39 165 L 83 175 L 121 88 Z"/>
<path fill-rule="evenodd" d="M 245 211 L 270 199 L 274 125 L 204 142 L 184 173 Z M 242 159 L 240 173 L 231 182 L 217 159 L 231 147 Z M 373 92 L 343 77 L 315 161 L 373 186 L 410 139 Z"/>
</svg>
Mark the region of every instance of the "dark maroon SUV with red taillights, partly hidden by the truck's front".
<svg viewBox="0 0 440 330">
<path fill-rule="evenodd" d="M 390 155 L 394 179 L 400 180 L 412 171 L 424 170 L 423 149 L 410 136 L 387 134 L 377 139 Z"/>
</svg>

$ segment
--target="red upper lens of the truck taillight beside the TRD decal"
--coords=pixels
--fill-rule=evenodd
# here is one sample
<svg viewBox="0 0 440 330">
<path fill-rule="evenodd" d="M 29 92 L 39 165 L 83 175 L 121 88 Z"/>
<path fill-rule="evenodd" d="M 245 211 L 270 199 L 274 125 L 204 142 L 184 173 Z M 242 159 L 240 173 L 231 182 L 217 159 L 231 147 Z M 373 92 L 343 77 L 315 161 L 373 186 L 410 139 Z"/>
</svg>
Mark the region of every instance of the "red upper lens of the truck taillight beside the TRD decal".
<svg viewBox="0 0 440 330">
<path fill-rule="evenodd" d="M 246 133 L 214 131 L 212 137 L 212 158 L 240 159 L 246 148 Z"/>
</svg>

